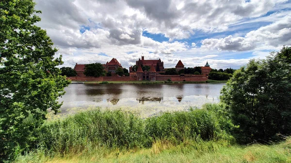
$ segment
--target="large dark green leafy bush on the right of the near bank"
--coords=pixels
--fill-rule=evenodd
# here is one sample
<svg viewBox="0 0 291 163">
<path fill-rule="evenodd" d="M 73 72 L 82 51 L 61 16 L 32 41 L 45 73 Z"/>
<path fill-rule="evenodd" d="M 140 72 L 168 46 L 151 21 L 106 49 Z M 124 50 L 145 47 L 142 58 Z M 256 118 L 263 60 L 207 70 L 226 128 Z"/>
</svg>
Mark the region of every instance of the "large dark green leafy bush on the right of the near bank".
<svg viewBox="0 0 291 163">
<path fill-rule="evenodd" d="M 252 59 L 237 70 L 221 91 L 235 125 L 235 135 L 243 143 L 278 138 L 276 133 L 291 134 L 291 65 L 275 57 Z M 289 52 L 288 52 L 289 51 Z M 274 54 L 274 53 L 273 53 Z"/>
</svg>

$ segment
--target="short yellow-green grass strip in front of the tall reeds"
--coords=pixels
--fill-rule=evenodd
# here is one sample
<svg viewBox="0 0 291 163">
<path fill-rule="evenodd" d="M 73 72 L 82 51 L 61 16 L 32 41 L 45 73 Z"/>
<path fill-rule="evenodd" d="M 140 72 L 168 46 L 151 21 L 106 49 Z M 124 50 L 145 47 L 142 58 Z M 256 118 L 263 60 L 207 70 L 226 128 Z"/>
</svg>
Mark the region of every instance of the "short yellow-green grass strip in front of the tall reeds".
<svg viewBox="0 0 291 163">
<path fill-rule="evenodd" d="M 94 151 L 54 157 L 43 152 L 18 158 L 17 163 L 291 163 L 291 138 L 273 145 L 229 145 L 224 141 L 185 140 L 179 145 L 157 141 L 151 148 Z"/>
</svg>

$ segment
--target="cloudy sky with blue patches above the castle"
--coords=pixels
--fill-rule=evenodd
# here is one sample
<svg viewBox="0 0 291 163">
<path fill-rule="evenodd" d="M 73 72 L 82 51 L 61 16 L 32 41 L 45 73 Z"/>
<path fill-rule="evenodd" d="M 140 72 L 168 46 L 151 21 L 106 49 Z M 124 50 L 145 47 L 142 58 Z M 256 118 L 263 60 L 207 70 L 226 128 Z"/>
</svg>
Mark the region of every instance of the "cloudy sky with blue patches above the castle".
<svg viewBox="0 0 291 163">
<path fill-rule="evenodd" d="M 35 0 L 64 64 L 239 69 L 291 45 L 291 0 Z"/>
</svg>

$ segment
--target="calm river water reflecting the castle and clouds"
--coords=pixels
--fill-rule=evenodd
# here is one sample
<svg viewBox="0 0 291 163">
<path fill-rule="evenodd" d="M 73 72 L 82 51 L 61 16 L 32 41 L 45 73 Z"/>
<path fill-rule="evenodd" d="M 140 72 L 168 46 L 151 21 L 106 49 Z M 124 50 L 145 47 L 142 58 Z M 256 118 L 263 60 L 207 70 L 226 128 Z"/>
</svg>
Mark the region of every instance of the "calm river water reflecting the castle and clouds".
<svg viewBox="0 0 291 163">
<path fill-rule="evenodd" d="M 132 110 L 141 116 L 163 111 L 189 110 L 205 103 L 219 102 L 225 84 L 70 84 L 65 88 L 62 113 L 69 108 L 102 108 Z M 70 111 L 69 111 L 70 112 Z"/>
</svg>

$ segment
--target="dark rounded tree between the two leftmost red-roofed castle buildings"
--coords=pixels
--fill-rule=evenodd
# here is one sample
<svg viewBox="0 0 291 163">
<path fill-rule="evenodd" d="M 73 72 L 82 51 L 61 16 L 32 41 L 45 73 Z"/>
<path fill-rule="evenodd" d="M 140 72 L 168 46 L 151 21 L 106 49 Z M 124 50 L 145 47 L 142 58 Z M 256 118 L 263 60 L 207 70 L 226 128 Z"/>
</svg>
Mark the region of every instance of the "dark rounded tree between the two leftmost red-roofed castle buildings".
<svg viewBox="0 0 291 163">
<path fill-rule="evenodd" d="M 85 64 L 84 74 L 86 76 L 100 77 L 100 76 L 105 76 L 105 73 L 106 72 L 101 63 Z"/>
</svg>

